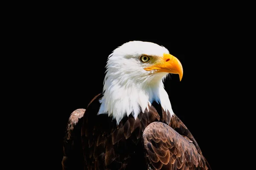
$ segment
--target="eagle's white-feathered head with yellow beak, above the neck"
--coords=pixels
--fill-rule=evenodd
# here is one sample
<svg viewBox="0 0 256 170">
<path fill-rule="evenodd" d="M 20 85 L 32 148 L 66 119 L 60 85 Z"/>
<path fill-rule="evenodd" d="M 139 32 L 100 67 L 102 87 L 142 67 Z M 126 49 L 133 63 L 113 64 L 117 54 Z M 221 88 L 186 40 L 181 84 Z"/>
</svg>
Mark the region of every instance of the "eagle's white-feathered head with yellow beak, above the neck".
<svg viewBox="0 0 256 170">
<path fill-rule="evenodd" d="M 169 73 L 183 76 L 180 61 L 169 51 L 152 42 L 130 41 L 116 48 L 108 57 L 106 77 L 123 79 L 120 85 L 161 81 Z M 133 80 L 133 81 L 132 81 Z M 127 85 L 127 84 L 126 84 Z"/>
</svg>

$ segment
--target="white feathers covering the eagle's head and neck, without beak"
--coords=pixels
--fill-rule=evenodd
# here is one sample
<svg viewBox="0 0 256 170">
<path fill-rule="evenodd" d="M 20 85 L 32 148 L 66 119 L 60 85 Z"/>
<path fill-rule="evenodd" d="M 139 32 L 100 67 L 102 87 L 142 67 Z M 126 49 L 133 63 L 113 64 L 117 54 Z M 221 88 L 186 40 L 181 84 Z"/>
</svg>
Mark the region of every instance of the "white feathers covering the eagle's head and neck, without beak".
<svg viewBox="0 0 256 170">
<path fill-rule="evenodd" d="M 169 96 L 163 85 L 168 73 L 145 71 L 148 63 L 140 61 L 140 56 L 163 57 L 169 51 L 152 42 L 130 41 L 116 48 L 108 56 L 104 79 L 103 97 L 98 114 L 108 114 L 117 124 L 131 113 L 135 119 L 138 114 L 151 105 L 160 102 L 163 109 L 172 115 Z"/>
</svg>

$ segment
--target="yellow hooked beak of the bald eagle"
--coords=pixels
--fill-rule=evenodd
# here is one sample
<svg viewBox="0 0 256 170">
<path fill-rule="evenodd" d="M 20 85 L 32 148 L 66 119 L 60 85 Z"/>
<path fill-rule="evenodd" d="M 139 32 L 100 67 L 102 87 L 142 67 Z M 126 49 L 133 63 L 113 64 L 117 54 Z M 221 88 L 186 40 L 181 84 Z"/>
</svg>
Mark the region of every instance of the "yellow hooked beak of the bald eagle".
<svg viewBox="0 0 256 170">
<path fill-rule="evenodd" d="M 183 68 L 180 61 L 171 54 L 163 54 L 163 57 L 157 60 L 157 63 L 144 69 L 146 71 L 157 70 L 158 72 L 179 74 L 180 81 L 183 76 Z"/>
</svg>

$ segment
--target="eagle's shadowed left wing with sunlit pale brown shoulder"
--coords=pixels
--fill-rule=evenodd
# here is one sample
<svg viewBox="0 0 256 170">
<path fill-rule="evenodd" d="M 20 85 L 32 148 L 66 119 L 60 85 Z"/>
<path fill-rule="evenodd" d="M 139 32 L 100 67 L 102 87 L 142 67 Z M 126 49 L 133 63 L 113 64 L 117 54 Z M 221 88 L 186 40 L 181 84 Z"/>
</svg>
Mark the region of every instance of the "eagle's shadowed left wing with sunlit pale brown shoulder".
<svg viewBox="0 0 256 170">
<path fill-rule="evenodd" d="M 85 109 L 76 109 L 70 114 L 67 124 L 66 136 L 63 142 L 63 170 L 83 169 L 83 153 L 81 146 L 81 125 Z"/>
</svg>

